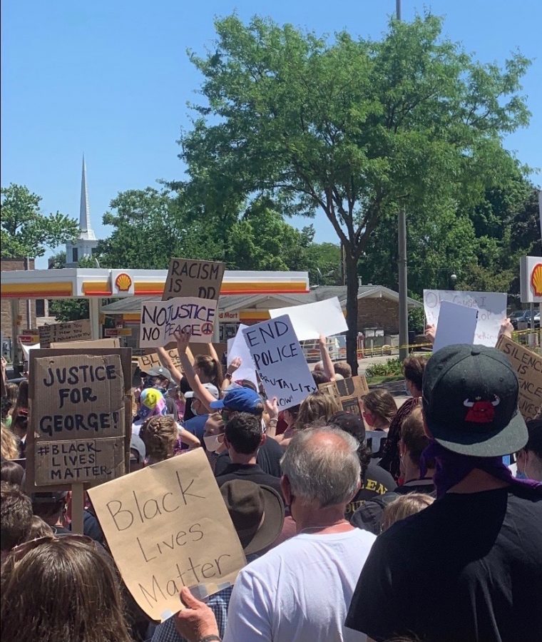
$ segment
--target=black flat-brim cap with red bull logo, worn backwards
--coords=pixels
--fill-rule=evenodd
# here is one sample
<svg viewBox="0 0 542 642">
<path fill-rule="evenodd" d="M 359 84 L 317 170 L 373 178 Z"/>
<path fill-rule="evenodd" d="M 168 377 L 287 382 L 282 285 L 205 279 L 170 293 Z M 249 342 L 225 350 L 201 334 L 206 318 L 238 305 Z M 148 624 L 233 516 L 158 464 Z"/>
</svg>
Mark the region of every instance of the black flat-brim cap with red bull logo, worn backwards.
<svg viewBox="0 0 542 642">
<path fill-rule="evenodd" d="M 518 377 L 499 350 L 449 345 L 427 362 L 422 399 L 427 427 L 444 448 L 472 457 L 501 457 L 523 448 Z"/>
</svg>

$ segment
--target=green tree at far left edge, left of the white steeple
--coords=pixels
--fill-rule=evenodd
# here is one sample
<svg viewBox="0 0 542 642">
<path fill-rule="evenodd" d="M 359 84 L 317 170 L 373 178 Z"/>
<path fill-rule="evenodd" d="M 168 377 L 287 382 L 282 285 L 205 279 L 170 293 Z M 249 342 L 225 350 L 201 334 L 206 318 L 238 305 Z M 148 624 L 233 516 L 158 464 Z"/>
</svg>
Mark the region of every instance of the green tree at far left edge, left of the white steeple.
<svg viewBox="0 0 542 642">
<path fill-rule="evenodd" d="M 42 214 L 41 197 L 25 185 L 1 188 L 1 252 L 6 258 L 43 256 L 47 249 L 72 240 L 78 234 L 75 219 L 59 212 Z"/>
</svg>

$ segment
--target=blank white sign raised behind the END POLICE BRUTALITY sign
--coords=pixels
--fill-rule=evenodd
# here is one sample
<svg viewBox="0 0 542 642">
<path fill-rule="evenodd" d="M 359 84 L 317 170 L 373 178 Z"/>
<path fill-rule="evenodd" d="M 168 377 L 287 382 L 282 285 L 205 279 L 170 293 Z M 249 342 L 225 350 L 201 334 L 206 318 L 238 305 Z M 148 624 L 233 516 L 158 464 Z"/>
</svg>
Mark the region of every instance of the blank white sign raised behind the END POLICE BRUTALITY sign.
<svg viewBox="0 0 542 642">
<path fill-rule="evenodd" d="M 337 297 L 306 303 L 305 305 L 293 305 L 292 307 L 280 307 L 277 310 L 270 310 L 272 319 L 288 315 L 294 327 L 297 339 L 306 341 L 318 339 L 320 335 L 331 337 L 340 332 L 348 330 L 346 319 Z"/>
</svg>

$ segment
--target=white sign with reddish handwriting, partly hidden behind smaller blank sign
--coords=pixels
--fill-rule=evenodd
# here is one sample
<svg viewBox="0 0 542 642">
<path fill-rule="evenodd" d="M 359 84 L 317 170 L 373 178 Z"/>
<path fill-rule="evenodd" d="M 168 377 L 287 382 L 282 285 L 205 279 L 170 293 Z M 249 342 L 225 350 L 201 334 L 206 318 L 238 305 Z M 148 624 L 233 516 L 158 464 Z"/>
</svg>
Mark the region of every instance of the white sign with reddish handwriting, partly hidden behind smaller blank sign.
<svg viewBox="0 0 542 642">
<path fill-rule="evenodd" d="M 431 325 L 439 322 L 442 301 L 478 310 L 474 343 L 495 347 L 501 321 L 506 318 L 506 294 L 503 292 L 461 292 L 458 290 L 424 290 L 424 312 Z"/>
</svg>

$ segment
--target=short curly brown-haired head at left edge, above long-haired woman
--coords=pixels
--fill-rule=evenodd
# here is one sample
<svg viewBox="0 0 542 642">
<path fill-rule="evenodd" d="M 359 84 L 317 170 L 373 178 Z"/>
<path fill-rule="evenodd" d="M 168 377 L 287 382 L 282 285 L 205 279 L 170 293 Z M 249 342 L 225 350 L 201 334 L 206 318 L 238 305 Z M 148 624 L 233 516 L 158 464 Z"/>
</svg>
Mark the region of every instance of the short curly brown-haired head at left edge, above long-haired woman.
<svg viewBox="0 0 542 642">
<path fill-rule="evenodd" d="M 32 504 L 19 486 L 0 482 L 0 551 L 6 554 L 25 541 L 32 524 Z M 4 638 L 2 638 L 4 639 Z M 23 638 L 20 638 L 23 639 Z"/>
</svg>

